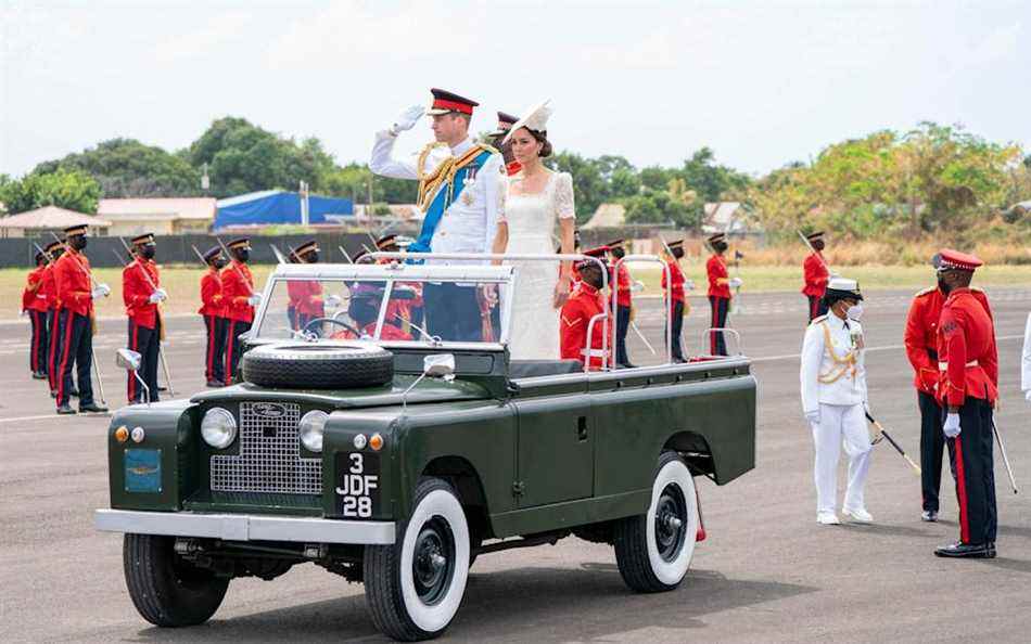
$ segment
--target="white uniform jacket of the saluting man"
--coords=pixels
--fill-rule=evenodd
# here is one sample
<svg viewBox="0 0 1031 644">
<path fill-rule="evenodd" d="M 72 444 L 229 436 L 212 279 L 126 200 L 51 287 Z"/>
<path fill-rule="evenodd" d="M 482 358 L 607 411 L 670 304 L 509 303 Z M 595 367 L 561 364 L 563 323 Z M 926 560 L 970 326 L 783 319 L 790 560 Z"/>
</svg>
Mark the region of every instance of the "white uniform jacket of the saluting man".
<svg viewBox="0 0 1031 644">
<path fill-rule="evenodd" d="M 369 168 L 377 175 L 394 179 L 413 179 L 421 181 L 417 156 L 411 159 L 393 158 L 394 142 L 397 137 L 390 131 L 376 134 L 372 158 Z M 431 173 L 437 165 L 449 156 L 459 157 L 472 149 L 472 140 L 466 139 L 455 147 L 433 147 L 423 162 L 423 172 Z M 489 253 L 497 233 L 498 220 L 505 214 L 505 165 L 500 154 L 492 154 L 486 163 L 469 178 L 467 175 L 461 194 L 444 211 L 433 239 L 431 253 Z M 446 190 L 442 184 L 441 190 Z M 456 263 L 438 260 L 435 263 Z M 459 262 L 460 263 L 460 262 Z"/>
</svg>

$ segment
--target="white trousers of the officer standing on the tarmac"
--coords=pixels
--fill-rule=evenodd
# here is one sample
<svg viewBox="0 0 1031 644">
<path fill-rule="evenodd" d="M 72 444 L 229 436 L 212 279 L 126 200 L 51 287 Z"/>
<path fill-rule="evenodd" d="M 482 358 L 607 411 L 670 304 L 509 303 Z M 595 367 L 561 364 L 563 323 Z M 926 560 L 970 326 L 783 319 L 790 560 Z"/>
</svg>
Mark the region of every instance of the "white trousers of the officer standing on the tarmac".
<svg viewBox="0 0 1031 644">
<path fill-rule="evenodd" d="M 863 488 L 870 468 L 870 435 L 862 404 L 819 403 L 819 422 L 813 424 L 816 448 L 816 512 L 835 512 L 838 500 L 838 456 L 844 443 L 849 456 L 849 488 L 844 510 L 865 510 Z"/>
</svg>

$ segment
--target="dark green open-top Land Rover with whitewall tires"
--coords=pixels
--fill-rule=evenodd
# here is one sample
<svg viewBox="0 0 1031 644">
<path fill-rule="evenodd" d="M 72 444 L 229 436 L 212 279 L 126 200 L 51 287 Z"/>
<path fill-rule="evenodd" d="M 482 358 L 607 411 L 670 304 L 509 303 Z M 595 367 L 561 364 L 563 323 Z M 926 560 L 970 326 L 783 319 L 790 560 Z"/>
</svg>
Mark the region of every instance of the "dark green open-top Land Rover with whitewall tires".
<svg viewBox="0 0 1031 644">
<path fill-rule="evenodd" d="M 675 589 L 705 537 L 693 478 L 754 466 L 749 361 L 511 360 L 518 273 L 281 265 L 241 382 L 117 411 L 96 525 L 125 533 L 140 615 L 198 624 L 231 579 L 313 563 L 364 582 L 385 634 L 423 640 L 455 617 L 476 556 L 570 536 L 611 544 L 635 591 Z M 497 293 L 494 342 L 431 336 L 430 288 Z M 322 314 L 298 320 L 296 292 L 319 294 Z M 136 358 L 119 351 L 130 370 Z"/>
</svg>

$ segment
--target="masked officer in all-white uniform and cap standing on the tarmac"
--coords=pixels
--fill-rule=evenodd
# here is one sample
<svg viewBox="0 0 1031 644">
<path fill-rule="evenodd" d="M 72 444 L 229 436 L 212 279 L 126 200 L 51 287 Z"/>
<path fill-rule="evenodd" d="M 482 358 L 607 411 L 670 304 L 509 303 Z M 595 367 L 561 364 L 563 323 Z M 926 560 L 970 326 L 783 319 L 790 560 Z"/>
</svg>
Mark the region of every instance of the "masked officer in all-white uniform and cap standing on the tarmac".
<svg viewBox="0 0 1031 644">
<path fill-rule="evenodd" d="M 867 389 L 863 295 L 854 280 L 833 278 L 824 294 L 827 314 L 814 319 L 802 343 L 802 412 L 816 448 L 816 520 L 838 525 L 838 456 L 849 456 L 849 487 L 842 511 L 853 520 L 870 523 L 863 488 L 870 466 L 866 428 Z"/>
</svg>

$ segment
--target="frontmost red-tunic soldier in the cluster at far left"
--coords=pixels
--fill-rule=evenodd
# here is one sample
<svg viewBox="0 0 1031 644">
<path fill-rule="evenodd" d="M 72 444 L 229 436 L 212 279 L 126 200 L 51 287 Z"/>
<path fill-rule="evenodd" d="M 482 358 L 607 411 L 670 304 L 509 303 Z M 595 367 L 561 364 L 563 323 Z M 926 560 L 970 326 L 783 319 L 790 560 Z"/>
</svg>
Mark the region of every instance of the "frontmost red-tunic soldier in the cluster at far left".
<svg viewBox="0 0 1031 644">
<path fill-rule="evenodd" d="M 74 414 L 71 405 L 72 369 L 77 366 L 79 411 L 103 412 L 106 407 L 93 401 L 90 369 L 93 365 L 93 300 L 106 297 L 106 284 L 92 284 L 89 259 L 82 254 L 87 245 L 87 227 L 73 226 L 64 230 L 67 239 L 64 255 L 54 267 L 54 284 L 61 310 L 58 333 L 61 335 L 58 364 L 58 413 Z"/>
</svg>

